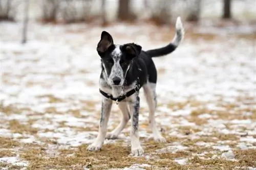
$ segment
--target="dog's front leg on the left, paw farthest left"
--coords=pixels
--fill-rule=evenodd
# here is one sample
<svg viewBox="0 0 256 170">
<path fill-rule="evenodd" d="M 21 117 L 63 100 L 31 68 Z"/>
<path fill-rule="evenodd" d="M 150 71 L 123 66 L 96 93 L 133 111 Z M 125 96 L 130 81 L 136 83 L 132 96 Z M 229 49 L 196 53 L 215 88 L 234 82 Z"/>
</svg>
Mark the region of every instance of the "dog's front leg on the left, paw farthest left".
<svg viewBox="0 0 256 170">
<path fill-rule="evenodd" d="M 88 146 L 89 151 L 100 150 L 106 136 L 106 130 L 109 122 L 112 101 L 103 98 L 101 102 L 101 118 L 99 123 L 99 132 L 95 141 Z"/>
</svg>

